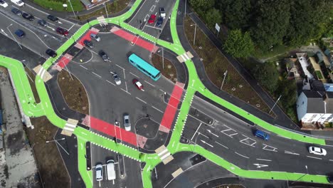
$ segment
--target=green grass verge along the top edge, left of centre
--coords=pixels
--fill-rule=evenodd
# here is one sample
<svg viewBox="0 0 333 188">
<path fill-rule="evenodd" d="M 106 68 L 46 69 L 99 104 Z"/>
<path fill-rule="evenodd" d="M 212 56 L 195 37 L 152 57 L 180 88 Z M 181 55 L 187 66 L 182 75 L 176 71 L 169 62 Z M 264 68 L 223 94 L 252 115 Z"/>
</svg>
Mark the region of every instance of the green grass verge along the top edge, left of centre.
<svg viewBox="0 0 333 188">
<path fill-rule="evenodd" d="M 51 9 L 53 11 L 72 11 L 69 2 L 66 0 L 33 0 L 33 2 L 43 8 Z M 71 0 L 70 3 L 72 4 L 74 11 L 82 11 L 85 9 L 80 0 Z M 67 4 L 67 9 L 63 7 L 63 4 Z"/>
</svg>

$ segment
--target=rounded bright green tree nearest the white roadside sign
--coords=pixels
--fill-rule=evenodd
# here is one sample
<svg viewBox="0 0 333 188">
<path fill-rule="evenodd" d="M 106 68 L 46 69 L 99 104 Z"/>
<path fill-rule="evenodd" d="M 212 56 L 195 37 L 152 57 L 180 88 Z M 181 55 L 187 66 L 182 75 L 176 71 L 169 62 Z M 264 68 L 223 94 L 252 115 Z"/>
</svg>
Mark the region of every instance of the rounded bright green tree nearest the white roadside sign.
<svg viewBox="0 0 333 188">
<path fill-rule="evenodd" d="M 223 45 L 224 50 L 236 58 L 246 58 L 254 51 L 253 41 L 250 33 L 244 34 L 240 29 L 231 30 L 228 33 L 226 43 Z"/>
</svg>

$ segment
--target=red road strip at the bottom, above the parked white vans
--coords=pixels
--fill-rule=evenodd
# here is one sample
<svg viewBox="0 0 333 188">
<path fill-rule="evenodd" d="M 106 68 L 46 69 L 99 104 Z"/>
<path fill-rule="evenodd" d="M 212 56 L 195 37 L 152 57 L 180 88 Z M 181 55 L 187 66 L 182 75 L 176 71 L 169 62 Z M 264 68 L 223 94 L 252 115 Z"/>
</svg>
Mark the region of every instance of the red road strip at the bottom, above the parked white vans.
<svg viewBox="0 0 333 188">
<path fill-rule="evenodd" d="M 125 129 L 112 125 L 103 120 L 99 120 L 92 116 L 90 116 L 90 127 L 112 137 L 117 137 L 117 139 L 120 139 L 123 142 L 137 146 L 137 135 L 135 135 L 133 132 L 126 131 Z"/>
</svg>

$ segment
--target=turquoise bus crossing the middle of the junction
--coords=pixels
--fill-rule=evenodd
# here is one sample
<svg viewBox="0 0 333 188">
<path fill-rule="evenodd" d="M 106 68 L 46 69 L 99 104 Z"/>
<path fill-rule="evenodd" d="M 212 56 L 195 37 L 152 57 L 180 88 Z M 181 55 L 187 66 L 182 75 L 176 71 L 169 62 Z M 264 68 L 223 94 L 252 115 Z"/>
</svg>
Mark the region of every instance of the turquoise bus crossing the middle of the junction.
<svg viewBox="0 0 333 188">
<path fill-rule="evenodd" d="M 129 61 L 129 63 L 132 64 L 132 66 L 135 66 L 137 69 L 139 69 L 139 71 L 141 71 L 142 73 L 148 75 L 154 81 L 158 80 L 159 77 L 161 77 L 161 73 L 159 72 L 159 70 L 157 70 L 156 68 L 154 68 L 154 66 L 152 66 L 149 63 L 147 63 L 146 61 L 144 61 L 139 56 L 135 55 L 135 53 L 132 53 L 128 57 L 128 61 Z"/>
</svg>

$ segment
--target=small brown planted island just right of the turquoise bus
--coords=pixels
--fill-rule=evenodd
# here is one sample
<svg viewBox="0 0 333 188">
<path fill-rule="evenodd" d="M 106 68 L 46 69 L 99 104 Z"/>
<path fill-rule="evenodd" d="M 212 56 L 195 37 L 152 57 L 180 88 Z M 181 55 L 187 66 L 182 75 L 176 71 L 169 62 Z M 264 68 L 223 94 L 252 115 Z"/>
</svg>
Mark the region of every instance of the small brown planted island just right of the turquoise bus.
<svg viewBox="0 0 333 188">
<path fill-rule="evenodd" d="M 157 53 L 152 54 L 152 63 L 155 68 L 161 71 L 162 75 L 171 80 L 171 82 L 176 83 L 177 73 L 176 68 L 168 59 L 164 58 L 164 68 L 162 62 L 162 56 L 159 56 Z"/>
</svg>

